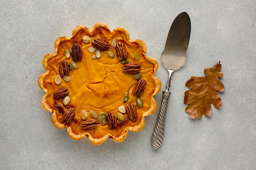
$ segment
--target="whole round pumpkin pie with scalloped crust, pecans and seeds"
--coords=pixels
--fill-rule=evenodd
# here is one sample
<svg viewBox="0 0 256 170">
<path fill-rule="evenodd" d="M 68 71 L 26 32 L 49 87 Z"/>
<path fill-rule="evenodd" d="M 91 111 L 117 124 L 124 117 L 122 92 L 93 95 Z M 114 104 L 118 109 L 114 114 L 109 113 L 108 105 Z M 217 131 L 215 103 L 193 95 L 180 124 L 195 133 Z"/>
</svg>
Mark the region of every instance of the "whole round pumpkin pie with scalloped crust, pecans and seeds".
<svg viewBox="0 0 256 170">
<path fill-rule="evenodd" d="M 124 141 L 128 130 L 144 128 L 161 89 L 154 75 L 158 63 L 146 56 L 144 42 L 99 22 L 92 30 L 76 26 L 72 37 L 59 37 L 54 48 L 43 58 L 46 72 L 38 85 L 56 128 L 67 128 L 74 140 L 88 137 L 94 145 L 107 138 Z"/>
</svg>

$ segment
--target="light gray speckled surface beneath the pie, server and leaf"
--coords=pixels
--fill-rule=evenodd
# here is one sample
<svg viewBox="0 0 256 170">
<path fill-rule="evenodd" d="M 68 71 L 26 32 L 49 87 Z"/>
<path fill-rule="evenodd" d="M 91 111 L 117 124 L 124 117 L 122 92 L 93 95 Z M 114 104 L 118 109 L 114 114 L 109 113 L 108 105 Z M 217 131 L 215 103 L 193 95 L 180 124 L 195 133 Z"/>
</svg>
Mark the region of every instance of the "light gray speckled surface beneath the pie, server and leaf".
<svg viewBox="0 0 256 170">
<path fill-rule="evenodd" d="M 168 72 L 160 61 L 174 18 L 186 11 L 191 39 L 186 65 L 173 73 L 165 138 L 150 146 L 157 120 L 146 117 L 141 132 L 101 146 L 73 141 L 52 125 L 40 104 L 42 59 L 59 36 L 77 25 L 97 22 L 125 27 L 143 40 L 159 62 L 162 90 Z M 255 0 L 2 0 L 0 6 L 0 169 L 1 170 L 254 170 L 256 169 L 256 1 Z M 225 92 L 210 118 L 192 120 L 184 112 L 185 83 L 204 76 L 221 61 Z M 155 96 L 160 104 L 162 92 Z"/>
</svg>

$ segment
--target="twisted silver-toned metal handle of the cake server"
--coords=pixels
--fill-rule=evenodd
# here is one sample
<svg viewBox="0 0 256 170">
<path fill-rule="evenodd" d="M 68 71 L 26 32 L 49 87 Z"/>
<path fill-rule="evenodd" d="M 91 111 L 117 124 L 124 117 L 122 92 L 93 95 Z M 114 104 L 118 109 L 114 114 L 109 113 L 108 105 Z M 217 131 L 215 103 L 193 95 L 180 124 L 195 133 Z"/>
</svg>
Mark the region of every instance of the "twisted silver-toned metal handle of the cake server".
<svg viewBox="0 0 256 170">
<path fill-rule="evenodd" d="M 166 115 L 166 110 L 168 105 L 168 99 L 170 95 L 171 95 L 170 92 L 163 91 L 162 104 L 160 107 L 157 123 L 155 125 L 155 129 L 153 131 L 153 135 L 151 138 L 151 145 L 155 150 L 160 148 L 164 140 L 164 121 L 165 121 L 165 115 Z"/>
</svg>

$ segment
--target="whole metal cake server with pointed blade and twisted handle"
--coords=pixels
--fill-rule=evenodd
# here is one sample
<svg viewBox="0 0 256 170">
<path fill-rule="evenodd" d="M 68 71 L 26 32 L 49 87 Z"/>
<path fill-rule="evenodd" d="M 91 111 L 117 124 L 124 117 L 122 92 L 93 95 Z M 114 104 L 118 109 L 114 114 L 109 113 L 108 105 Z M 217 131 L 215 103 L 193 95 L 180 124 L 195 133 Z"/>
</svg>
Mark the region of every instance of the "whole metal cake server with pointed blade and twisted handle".
<svg viewBox="0 0 256 170">
<path fill-rule="evenodd" d="M 163 91 L 162 104 L 151 138 L 151 145 L 155 150 L 160 148 L 164 139 L 164 121 L 168 99 L 171 95 L 169 92 L 171 74 L 179 70 L 181 66 L 184 66 L 186 62 L 186 51 L 189 45 L 190 32 L 191 22 L 189 15 L 186 12 L 180 13 L 171 25 L 164 51 L 161 55 L 161 61 L 169 72 L 169 77 L 166 83 L 166 90 Z"/>
</svg>

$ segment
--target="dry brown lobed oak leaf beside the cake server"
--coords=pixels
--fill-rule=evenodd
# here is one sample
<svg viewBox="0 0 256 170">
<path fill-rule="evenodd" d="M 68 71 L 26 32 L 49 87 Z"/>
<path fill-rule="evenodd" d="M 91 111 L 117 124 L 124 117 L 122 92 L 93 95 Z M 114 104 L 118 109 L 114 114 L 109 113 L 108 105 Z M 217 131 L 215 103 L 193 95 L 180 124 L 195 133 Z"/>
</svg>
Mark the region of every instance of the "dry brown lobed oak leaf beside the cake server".
<svg viewBox="0 0 256 170">
<path fill-rule="evenodd" d="M 184 104 L 188 104 L 185 112 L 189 113 L 190 118 L 198 117 L 201 119 L 203 114 L 210 117 L 212 114 L 211 104 L 216 108 L 221 107 L 222 100 L 217 91 L 223 92 L 225 87 L 218 79 L 218 77 L 223 77 L 220 69 L 221 64 L 219 62 L 213 68 L 204 69 L 205 77 L 192 76 L 186 82 L 186 87 L 191 88 L 191 90 L 185 91 Z"/>
</svg>

